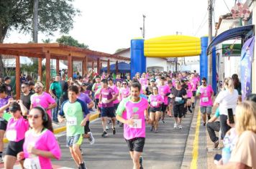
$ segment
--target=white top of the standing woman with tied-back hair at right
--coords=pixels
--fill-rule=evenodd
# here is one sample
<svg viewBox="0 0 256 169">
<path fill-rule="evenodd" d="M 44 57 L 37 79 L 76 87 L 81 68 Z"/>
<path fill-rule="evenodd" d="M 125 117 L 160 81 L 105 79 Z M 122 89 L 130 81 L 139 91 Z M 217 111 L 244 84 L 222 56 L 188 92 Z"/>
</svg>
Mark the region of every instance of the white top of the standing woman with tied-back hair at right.
<svg viewBox="0 0 256 169">
<path fill-rule="evenodd" d="M 227 109 L 233 110 L 235 115 L 235 110 L 237 107 L 238 92 L 234 90 L 231 94 L 229 90 L 224 90 L 219 92 L 219 95 L 216 97 L 215 102 L 219 103 L 219 115 L 228 115 Z"/>
</svg>

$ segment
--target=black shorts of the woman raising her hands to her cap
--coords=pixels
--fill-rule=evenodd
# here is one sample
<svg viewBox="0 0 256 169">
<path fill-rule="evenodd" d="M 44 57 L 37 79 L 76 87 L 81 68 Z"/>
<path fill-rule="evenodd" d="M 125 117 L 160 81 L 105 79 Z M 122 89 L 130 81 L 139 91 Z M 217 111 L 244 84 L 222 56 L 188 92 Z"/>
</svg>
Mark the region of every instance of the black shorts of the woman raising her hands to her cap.
<svg viewBox="0 0 256 169">
<path fill-rule="evenodd" d="M 5 155 L 17 157 L 17 154 L 23 151 L 23 143 L 24 139 L 18 142 L 10 141 L 6 148 Z"/>
</svg>

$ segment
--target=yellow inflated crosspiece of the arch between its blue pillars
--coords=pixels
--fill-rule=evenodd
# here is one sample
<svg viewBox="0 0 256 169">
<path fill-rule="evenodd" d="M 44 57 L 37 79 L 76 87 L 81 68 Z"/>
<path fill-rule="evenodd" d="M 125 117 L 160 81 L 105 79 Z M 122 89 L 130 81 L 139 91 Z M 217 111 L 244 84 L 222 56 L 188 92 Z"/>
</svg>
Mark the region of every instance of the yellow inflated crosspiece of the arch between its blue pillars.
<svg viewBox="0 0 256 169">
<path fill-rule="evenodd" d="M 144 42 L 145 57 L 192 57 L 201 54 L 201 39 L 173 35 L 147 39 Z"/>
</svg>

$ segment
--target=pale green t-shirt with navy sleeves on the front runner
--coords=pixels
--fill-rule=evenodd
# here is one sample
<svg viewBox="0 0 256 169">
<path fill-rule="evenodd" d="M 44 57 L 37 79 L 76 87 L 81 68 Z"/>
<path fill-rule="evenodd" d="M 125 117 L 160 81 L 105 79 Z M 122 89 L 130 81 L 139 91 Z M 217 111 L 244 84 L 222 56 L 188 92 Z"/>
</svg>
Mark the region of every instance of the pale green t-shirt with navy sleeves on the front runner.
<svg viewBox="0 0 256 169">
<path fill-rule="evenodd" d="M 83 118 L 88 115 L 89 111 L 86 104 L 81 100 L 76 102 L 63 102 L 60 107 L 60 116 L 64 116 L 67 120 L 67 136 L 76 136 L 84 134 L 84 127 L 81 126 Z"/>
</svg>

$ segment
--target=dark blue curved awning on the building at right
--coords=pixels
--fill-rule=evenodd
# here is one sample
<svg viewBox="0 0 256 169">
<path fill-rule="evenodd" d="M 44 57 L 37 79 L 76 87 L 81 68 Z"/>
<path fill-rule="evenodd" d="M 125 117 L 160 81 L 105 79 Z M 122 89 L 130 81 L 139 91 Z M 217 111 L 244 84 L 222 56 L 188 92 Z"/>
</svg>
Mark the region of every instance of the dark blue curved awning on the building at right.
<svg viewBox="0 0 256 169">
<path fill-rule="evenodd" d="M 239 26 L 237 28 L 229 29 L 225 32 L 222 32 L 219 34 L 216 38 L 214 38 L 211 43 L 209 44 L 207 48 L 207 54 L 211 52 L 211 49 L 215 47 L 217 44 L 220 44 L 221 42 L 230 40 L 230 39 L 237 39 L 237 38 L 244 38 L 250 32 L 252 29 L 254 29 L 254 25 L 247 25 L 247 26 Z"/>
</svg>

